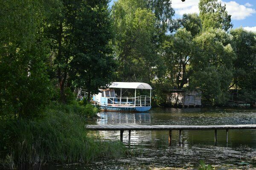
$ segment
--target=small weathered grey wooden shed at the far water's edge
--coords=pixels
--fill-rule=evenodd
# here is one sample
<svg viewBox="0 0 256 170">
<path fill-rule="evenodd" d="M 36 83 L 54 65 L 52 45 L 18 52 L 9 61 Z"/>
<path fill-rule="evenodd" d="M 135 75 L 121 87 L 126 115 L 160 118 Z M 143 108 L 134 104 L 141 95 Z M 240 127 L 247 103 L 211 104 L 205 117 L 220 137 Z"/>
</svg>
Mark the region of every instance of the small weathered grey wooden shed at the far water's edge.
<svg viewBox="0 0 256 170">
<path fill-rule="evenodd" d="M 189 106 L 201 106 L 202 91 L 195 90 L 179 90 L 173 89 L 167 95 L 167 103 L 173 106 L 181 106 L 182 108 Z"/>
</svg>

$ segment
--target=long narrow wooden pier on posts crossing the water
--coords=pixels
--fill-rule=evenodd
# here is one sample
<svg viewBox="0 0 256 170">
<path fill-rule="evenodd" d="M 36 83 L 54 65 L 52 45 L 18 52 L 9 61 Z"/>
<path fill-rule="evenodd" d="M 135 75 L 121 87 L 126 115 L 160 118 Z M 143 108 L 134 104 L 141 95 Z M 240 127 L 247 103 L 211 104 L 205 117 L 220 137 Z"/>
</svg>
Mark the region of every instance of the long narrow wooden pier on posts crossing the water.
<svg viewBox="0 0 256 170">
<path fill-rule="evenodd" d="M 129 143 L 131 130 L 169 130 L 169 144 L 172 142 L 172 130 L 179 130 L 179 144 L 181 144 L 182 130 L 214 130 L 215 144 L 217 142 L 217 130 L 226 129 L 226 142 L 228 142 L 229 129 L 256 129 L 256 125 L 86 125 L 88 130 L 120 130 L 120 140 L 123 141 L 123 132 L 129 131 Z"/>
</svg>

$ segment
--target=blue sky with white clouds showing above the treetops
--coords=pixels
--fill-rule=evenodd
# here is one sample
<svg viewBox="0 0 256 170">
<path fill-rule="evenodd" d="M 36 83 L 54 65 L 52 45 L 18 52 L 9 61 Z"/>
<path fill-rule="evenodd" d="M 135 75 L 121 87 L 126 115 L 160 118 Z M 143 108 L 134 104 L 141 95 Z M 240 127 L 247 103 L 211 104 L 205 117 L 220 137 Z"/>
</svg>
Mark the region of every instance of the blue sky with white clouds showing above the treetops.
<svg viewBox="0 0 256 170">
<path fill-rule="evenodd" d="M 110 6 L 113 5 L 111 0 Z M 174 18 L 182 17 L 185 13 L 199 13 L 199 0 L 171 0 L 172 8 L 175 10 Z M 256 0 L 219 0 L 226 4 L 226 10 L 231 15 L 233 28 L 243 27 L 249 31 L 256 32 Z"/>
</svg>

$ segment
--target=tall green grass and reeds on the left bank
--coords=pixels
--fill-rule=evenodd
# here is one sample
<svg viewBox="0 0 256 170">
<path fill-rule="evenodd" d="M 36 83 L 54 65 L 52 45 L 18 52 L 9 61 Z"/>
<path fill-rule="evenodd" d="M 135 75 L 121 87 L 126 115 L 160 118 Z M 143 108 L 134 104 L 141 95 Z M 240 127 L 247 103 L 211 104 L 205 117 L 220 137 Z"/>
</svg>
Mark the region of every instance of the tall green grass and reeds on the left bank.
<svg viewBox="0 0 256 170">
<path fill-rule="evenodd" d="M 91 105 L 51 105 L 37 119 L 0 120 L 0 167 L 27 169 L 47 162 L 87 163 L 124 156 L 121 142 L 88 135 L 85 118 L 96 112 Z"/>
</svg>

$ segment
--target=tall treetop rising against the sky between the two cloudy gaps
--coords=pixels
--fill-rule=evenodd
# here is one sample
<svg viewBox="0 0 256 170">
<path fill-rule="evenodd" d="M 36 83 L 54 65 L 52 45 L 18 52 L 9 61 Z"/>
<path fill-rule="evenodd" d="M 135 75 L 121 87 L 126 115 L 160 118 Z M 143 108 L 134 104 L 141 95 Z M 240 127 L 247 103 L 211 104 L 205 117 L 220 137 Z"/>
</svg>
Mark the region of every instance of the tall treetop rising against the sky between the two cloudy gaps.
<svg viewBox="0 0 256 170">
<path fill-rule="evenodd" d="M 218 0 L 200 0 L 199 17 L 204 30 L 221 28 L 228 31 L 233 27 L 231 15 L 227 14 L 226 5 L 222 6 Z"/>
</svg>

